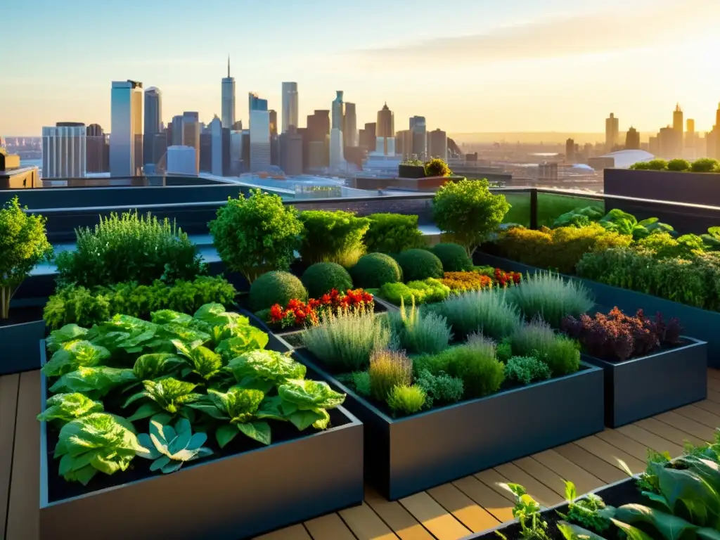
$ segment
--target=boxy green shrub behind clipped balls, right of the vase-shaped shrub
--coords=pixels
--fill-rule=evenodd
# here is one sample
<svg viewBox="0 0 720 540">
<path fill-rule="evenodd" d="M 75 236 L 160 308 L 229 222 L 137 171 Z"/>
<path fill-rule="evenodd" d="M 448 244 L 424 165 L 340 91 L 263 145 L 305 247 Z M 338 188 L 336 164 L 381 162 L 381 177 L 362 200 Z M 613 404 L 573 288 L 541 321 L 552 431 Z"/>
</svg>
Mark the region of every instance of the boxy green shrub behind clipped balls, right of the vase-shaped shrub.
<svg viewBox="0 0 720 540">
<path fill-rule="evenodd" d="M 421 248 L 425 244 L 416 215 L 371 214 L 368 219 L 370 228 L 365 233 L 365 246 L 370 253 L 400 253 L 406 249 Z M 382 283 L 377 287 L 380 285 Z"/>
</svg>

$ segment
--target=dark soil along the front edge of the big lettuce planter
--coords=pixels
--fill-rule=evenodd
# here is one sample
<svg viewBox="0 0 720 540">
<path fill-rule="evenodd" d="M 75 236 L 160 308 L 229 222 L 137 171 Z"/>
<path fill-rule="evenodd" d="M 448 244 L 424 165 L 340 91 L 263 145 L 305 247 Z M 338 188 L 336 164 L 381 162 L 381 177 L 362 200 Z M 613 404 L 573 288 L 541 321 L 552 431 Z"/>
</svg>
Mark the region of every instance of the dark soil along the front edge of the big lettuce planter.
<svg viewBox="0 0 720 540">
<path fill-rule="evenodd" d="M 350 420 L 348 420 L 348 418 L 337 409 L 328 410 L 328 413 L 330 413 L 330 426 L 328 426 L 328 429 L 337 428 L 339 426 L 344 426 L 350 423 Z M 150 419 L 148 418 L 147 421 L 149 423 Z M 297 428 L 289 422 L 277 422 L 271 420 L 269 423 L 272 433 L 272 444 L 270 446 L 274 446 L 275 444 L 287 441 L 294 441 L 305 436 L 310 436 L 313 433 L 320 433 L 320 431 L 312 427 L 307 428 L 305 431 L 297 431 Z M 143 420 L 140 420 L 140 422 L 138 422 L 138 425 L 143 426 Z M 120 471 L 112 475 L 98 472 L 86 486 L 82 485 L 79 482 L 68 482 L 63 477 L 61 477 L 58 472 L 60 466 L 60 459 L 53 458 L 55 445 L 58 444 L 59 432 L 57 429 L 53 428 L 53 426 L 50 426 L 49 424 L 47 428 L 48 449 L 52 449 L 48 451 L 48 455 L 45 458 L 48 460 L 48 500 L 50 503 L 71 497 L 77 497 L 78 495 L 86 495 L 89 492 L 104 490 L 107 487 L 116 487 L 123 484 L 128 484 L 130 482 L 136 482 L 138 480 L 145 480 L 148 478 L 163 476 L 163 474 L 161 473 L 158 474 L 158 472 L 150 471 L 150 464 L 153 463 L 152 459 L 145 459 L 136 456 L 134 459 L 132 459 L 132 462 L 130 462 L 130 467 L 128 467 L 125 472 Z M 145 428 L 144 433 L 147 432 L 147 428 Z M 143 433 L 143 429 L 138 430 L 138 433 Z M 187 469 L 189 467 L 202 467 L 202 465 L 209 464 L 214 459 L 235 456 L 238 454 L 243 454 L 243 452 L 247 451 L 261 451 L 262 449 L 268 448 L 268 446 L 260 444 L 257 441 L 253 441 L 253 439 L 244 436 L 243 433 L 238 433 L 238 436 L 236 436 L 233 441 L 230 442 L 230 444 L 228 444 L 227 446 L 225 446 L 224 449 L 221 450 L 220 446 L 217 446 L 214 431 L 212 431 L 208 435 L 207 442 L 204 444 L 204 446 L 212 449 L 214 454 L 204 459 L 197 459 L 195 461 L 186 463 L 178 472 L 174 472 L 171 474 L 178 474 L 179 472 L 182 472 L 183 469 Z M 328 456 L 328 459 L 333 459 L 333 456 Z"/>
</svg>

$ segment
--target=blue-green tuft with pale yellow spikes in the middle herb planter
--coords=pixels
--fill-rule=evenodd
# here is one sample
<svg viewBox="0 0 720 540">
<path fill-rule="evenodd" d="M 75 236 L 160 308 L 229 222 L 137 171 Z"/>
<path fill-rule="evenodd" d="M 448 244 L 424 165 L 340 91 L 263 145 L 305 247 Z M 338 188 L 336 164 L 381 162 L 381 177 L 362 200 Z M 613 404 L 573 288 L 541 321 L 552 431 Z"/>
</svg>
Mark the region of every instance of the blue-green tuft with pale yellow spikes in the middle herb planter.
<svg viewBox="0 0 720 540">
<path fill-rule="evenodd" d="M 410 310 L 400 301 L 400 311 L 388 314 L 393 336 L 410 354 L 434 354 L 444 351 L 452 338 L 447 320 L 437 313 L 420 313 L 415 302 Z"/>
</svg>

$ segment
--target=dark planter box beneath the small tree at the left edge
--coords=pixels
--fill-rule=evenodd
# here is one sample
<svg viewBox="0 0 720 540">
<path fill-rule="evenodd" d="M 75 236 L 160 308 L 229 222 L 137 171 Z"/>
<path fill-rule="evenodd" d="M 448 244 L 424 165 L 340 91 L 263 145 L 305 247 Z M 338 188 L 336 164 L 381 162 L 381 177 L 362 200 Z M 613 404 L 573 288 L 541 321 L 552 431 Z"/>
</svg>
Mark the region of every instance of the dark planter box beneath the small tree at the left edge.
<svg viewBox="0 0 720 540">
<path fill-rule="evenodd" d="M 45 338 L 45 321 L 0 326 L 0 375 L 40 369 L 37 342 Z"/>
</svg>

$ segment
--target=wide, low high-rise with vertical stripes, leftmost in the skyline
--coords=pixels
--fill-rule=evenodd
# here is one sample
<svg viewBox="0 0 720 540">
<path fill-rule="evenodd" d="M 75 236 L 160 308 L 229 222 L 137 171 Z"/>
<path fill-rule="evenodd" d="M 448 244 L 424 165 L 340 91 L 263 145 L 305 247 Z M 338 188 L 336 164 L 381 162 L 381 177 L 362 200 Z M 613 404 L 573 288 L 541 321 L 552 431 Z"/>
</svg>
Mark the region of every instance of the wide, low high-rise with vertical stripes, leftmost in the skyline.
<svg viewBox="0 0 720 540">
<path fill-rule="evenodd" d="M 84 178 L 87 130 L 80 122 L 42 128 L 42 178 Z"/>
</svg>

